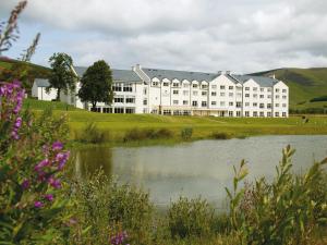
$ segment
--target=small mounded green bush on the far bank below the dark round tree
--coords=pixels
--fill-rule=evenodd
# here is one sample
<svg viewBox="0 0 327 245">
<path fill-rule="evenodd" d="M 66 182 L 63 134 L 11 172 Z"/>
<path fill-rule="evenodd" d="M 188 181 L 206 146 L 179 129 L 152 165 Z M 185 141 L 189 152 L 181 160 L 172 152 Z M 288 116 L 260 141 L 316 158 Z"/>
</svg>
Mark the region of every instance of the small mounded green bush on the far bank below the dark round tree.
<svg viewBox="0 0 327 245">
<path fill-rule="evenodd" d="M 104 143 L 105 138 L 105 132 L 101 132 L 94 122 L 87 123 L 82 134 L 76 135 L 78 142 L 90 144 Z"/>
</svg>

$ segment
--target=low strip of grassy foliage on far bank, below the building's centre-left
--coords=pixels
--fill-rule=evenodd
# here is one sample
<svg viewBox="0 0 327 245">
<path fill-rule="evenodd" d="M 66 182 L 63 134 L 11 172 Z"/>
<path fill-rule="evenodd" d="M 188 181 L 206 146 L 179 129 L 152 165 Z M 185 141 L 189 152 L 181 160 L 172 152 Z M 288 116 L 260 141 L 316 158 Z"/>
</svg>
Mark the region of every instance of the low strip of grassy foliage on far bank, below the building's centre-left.
<svg viewBox="0 0 327 245">
<path fill-rule="evenodd" d="M 144 139 L 158 139 L 158 138 L 170 138 L 173 133 L 168 128 L 132 128 L 126 131 L 123 142 L 144 140 Z"/>
</svg>

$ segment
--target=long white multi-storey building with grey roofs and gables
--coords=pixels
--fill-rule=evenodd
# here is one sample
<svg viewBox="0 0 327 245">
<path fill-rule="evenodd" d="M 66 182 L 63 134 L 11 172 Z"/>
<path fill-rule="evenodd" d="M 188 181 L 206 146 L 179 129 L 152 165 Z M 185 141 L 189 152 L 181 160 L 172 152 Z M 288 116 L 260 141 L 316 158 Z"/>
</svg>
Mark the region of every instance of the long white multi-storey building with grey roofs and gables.
<svg viewBox="0 0 327 245">
<path fill-rule="evenodd" d="M 74 68 L 82 77 L 86 68 Z M 274 77 L 146 69 L 112 70 L 112 105 L 98 103 L 104 113 L 172 115 L 274 117 L 289 115 L 289 88 Z M 62 100 L 78 108 L 76 91 Z"/>
</svg>

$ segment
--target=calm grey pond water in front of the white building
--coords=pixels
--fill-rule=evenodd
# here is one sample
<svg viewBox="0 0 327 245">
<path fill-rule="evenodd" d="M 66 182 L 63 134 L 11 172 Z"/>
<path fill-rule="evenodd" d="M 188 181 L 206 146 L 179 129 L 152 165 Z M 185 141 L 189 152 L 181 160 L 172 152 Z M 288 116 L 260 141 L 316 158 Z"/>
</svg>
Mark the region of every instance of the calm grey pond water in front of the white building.
<svg viewBox="0 0 327 245">
<path fill-rule="evenodd" d="M 247 180 L 275 175 L 275 166 L 287 145 L 296 149 L 293 171 L 301 173 L 314 160 L 327 157 L 327 136 L 259 136 L 246 139 L 201 140 L 174 146 L 88 148 L 74 152 L 75 174 L 84 176 L 100 167 L 150 193 L 157 206 L 179 196 L 202 196 L 223 205 L 225 187 L 231 187 L 233 166 L 245 159 Z"/>
</svg>

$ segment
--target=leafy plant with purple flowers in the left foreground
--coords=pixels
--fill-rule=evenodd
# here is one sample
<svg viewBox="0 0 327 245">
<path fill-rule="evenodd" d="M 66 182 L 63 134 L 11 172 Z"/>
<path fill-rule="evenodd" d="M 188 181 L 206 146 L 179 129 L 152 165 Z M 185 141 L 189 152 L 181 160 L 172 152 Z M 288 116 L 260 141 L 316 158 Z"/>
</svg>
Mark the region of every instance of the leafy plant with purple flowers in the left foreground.
<svg viewBox="0 0 327 245">
<path fill-rule="evenodd" d="M 64 119 L 37 121 L 21 111 L 23 98 L 20 82 L 0 84 L 0 244 L 61 244 L 70 219 Z"/>
</svg>

